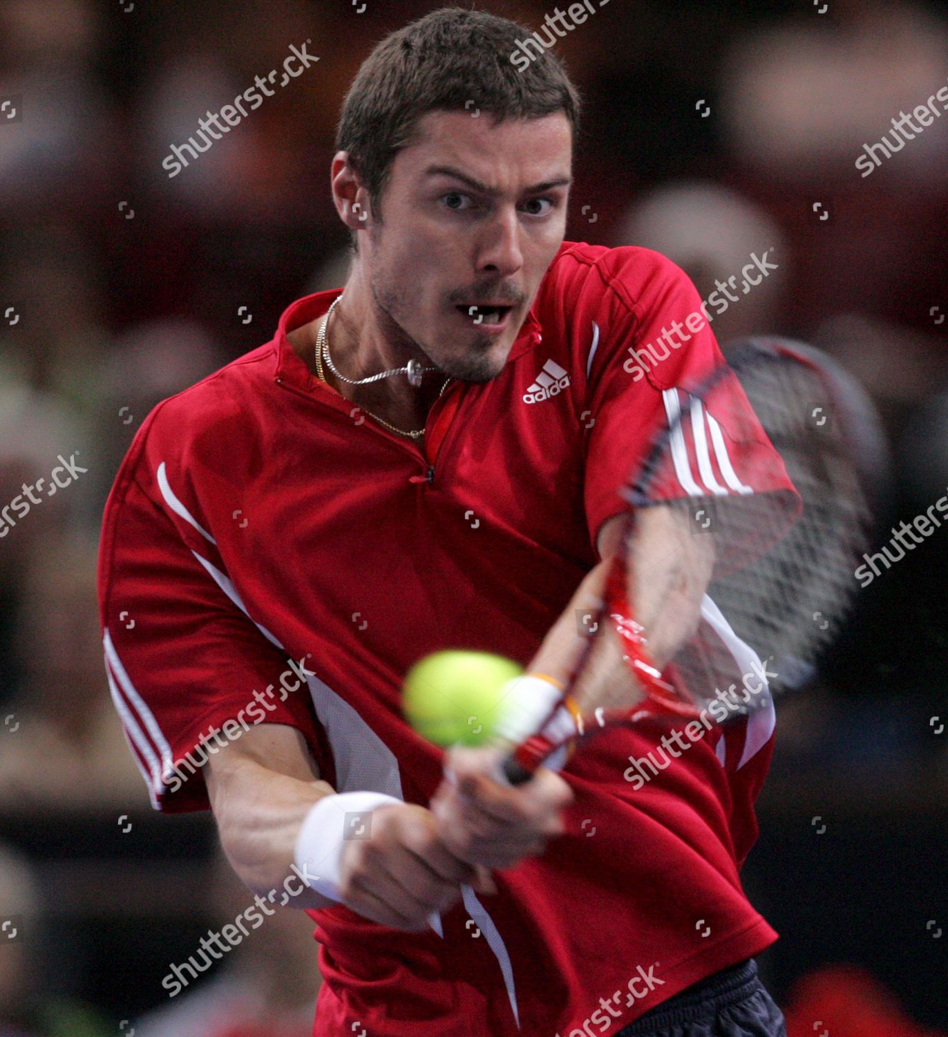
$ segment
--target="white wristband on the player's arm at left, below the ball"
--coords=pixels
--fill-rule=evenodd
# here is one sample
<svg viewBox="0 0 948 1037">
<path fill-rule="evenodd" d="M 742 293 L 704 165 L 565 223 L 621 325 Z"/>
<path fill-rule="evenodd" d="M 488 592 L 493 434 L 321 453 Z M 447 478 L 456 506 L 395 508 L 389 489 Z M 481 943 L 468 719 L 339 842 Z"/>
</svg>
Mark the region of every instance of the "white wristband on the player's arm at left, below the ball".
<svg viewBox="0 0 948 1037">
<path fill-rule="evenodd" d="M 403 801 L 383 792 L 335 792 L 314 803 L 293 850 L 296 873 L 307 886 L 341 903 L 343 848 L 351 839 L 368 839 L 372 811 L 392 804 L 402 806 Z"/>
</svg>

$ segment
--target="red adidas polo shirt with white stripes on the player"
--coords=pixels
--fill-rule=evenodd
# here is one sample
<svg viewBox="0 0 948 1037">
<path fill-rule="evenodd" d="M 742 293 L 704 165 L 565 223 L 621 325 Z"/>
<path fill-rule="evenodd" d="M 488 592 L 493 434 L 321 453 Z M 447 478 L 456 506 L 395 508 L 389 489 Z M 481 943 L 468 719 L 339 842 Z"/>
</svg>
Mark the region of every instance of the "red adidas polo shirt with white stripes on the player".
<svg viewBox="0 0 948 1037">
<path fill-rule="evenodd" d="M 677 387 L 720 359 L 674 264 L 566 243 L 500 374 L 452 384 L 414 443 L 289 345 L 338 295 L 294 303 L 271 341 L 160 404 L 109 499 L 109 680 L 157 809 L 206 809 L 191 775 L 213 751 L 202 741 L 261 721 L 298 728 L 336 789 L 427 805 L 442 754 L 402 717 L 405 671 L 446 647 L 527 663 L 598 561 L 617 487 L 684 400 Z M 689 316 L 703 327 L 636 376 L 630 347 Z M 765 438 L 723 432 L 702 441 L 706 467 L 689 453 L 690 478 L 723 483 L 730 469 L 755 492 L 786 485 Z M 726 465 L 712 452 L 722 444 Z M 290 660 L 312 671 L 305 686 Z M 762 951 L 776 934 L 738 866 L 772 730 L 760 712 L 726 740 L 713 731 L 641 786 L 625 777 L 630 757 L 662 732 L 603 735 L 564 770 L 567 834 L 498 872 L 496 896 L 465 890 L 442 934 L 342 905 L 311 913 L 324 977 L 314 1034 L 611 1034 Z"/>
</svg>

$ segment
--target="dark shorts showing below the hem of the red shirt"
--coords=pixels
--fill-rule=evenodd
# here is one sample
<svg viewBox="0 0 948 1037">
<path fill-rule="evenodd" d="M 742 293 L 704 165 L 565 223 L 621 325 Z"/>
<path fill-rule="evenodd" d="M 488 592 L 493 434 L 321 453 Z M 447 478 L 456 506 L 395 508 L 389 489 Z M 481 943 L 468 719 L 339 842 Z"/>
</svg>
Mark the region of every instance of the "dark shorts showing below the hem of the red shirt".
<svg viewBox="0 0 948 1037">
<path fill-rule="evenodd" d="M 753 958 L 694 983 L 615 1037 L 786 1037 Z"/>
</svg>

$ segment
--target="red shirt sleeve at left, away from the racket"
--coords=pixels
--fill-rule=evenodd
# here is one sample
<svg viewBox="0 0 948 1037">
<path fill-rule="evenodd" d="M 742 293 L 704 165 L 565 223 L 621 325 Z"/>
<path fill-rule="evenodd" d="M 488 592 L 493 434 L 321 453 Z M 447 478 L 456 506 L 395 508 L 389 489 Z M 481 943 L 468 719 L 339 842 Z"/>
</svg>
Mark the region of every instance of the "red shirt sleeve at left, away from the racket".
<svg viewBox="0 0 948 1037">
<path fill-rule="evenodd" d="M 139 432 L 106 506 L 99 619 L 112 700 L 152 806 L 205 810 L 201 765 L 258 723 L 319 744 L 304 660 L 241 611 L 199 515 L 160 492 Z M 186 518 L 184 515 L 186 514 Z M 190 521 L 189 521 L 190 520 Z"/>
</svg>

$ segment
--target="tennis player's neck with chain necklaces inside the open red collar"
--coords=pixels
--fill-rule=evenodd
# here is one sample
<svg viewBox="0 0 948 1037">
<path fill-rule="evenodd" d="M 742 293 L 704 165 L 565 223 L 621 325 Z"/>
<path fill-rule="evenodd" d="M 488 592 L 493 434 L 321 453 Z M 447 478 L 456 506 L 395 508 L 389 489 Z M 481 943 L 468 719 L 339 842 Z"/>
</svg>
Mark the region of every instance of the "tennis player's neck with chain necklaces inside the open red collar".
<svg viewBox="0 0 948 1037">
<path fill-rule="evenodd" d="M 337 370 L 358 380 L 404 367 L 411 359 L 423 367 L 432 366 L 413 342 L 405 340 L 387 314 L 372 304 L 371 292 L 356 268 L 326 328 L 325 340 Z M 324 315 L 317 317 L 288 335 L 294 351 L 314 374 L 316 341 L 324 319 Z M 425 426 L 428 412 L 444 385 L 444 375 L 437 371 L 426 373 L 419 387 L 408 382 L 407 374 L 395 374 L 370 385 L 349 385 L 337 379 L 325 362 L 322 373 L 326 384 L 343 398 L 405 431 Z"/>
</svg>

